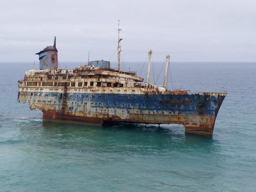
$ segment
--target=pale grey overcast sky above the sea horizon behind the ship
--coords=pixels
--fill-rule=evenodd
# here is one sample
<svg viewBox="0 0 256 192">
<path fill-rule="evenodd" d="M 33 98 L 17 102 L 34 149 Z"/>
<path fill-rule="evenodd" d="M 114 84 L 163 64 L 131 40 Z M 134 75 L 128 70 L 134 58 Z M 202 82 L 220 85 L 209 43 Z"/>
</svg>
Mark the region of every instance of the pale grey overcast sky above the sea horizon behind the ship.
<svg viewBox="0 0 256 192">
<path fill-rule="evenodd" d="M 116 61 L 118 20 L 123 61 L 256 60 L 256 0 L 2 0 L 0 62 Z"/>
</svg>

